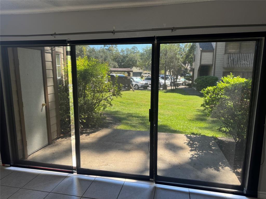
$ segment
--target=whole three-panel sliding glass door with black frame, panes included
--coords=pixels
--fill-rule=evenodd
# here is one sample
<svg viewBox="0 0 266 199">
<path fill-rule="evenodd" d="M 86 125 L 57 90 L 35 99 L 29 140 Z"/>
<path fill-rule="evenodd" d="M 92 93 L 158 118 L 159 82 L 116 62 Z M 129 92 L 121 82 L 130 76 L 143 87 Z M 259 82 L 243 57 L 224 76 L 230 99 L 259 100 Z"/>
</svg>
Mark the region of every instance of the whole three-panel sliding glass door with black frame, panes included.
<svg viewBox="0 0 266 199">
<path fill-rule="evenodd" d="M 3 48 L 14 165 L 254 191 L 262 39 L 177 39 Z"/>
</svg>

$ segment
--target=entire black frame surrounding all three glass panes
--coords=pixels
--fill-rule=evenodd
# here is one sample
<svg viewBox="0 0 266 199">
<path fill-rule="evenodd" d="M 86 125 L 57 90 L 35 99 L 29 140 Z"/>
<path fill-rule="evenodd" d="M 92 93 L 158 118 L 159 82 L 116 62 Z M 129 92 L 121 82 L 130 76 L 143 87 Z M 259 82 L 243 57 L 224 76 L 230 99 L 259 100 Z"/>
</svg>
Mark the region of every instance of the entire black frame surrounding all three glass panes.
<svg viewBox="0 0 266 199">
<path fill-rule="evenodd" d="M 74 46 L 75 45 L 88 45 L 88 44 L 142 44 L 142 43 L 150 43 L 152 44 L 152 55 L 153 55 L 153 64 L 152 64 L 152 77 L 154 80 L 159 78 L 159 56 L 160 56 L 160 44 L 165 43 L 186 43 L 186 42 L 214 42 L 214 41 L 246 41 L 246 40 L 256 40 L 257 42 L 257 49 L 256 49 L 256 55 L 255 58 L 260 58 L 261 60 L 254 60 L 256 63 L 256 67 L 254 67 L 254 73 L 253 73 L 253 80 L 252 82 L 252 113 L 254 113 L 254 121 L 253 121 L 253 131 L 254 132 L 261 132 L 261 133 L 255 133 L 252 137 L 252 139 L 247 139 L 247 147 L 246 147 L 246 154 L 247 150 L 250 149 L 250 155 L 249 160 L 250 165 L 249 170 L 245 171 L 245 174 L 249 177 L 247 179 L 243 179 L 242 181 L 246 181 L 245 185 L 242 184 L 242 186 L 236 186 L 235 185 L 228 185 L 228 184 L 220 184 L 220 183 L 210 183 L 210 182 L 204 182 L 204 181 L 197 181 L 197 180 L 185 180 L 185 179 L 176 179 L 176 178 L 161 178 L 160 176 L 157 176 L 157 117 L 158 117 L 158 89 L 159 88 L 159 81 L 153 81 L 153 89 L 151 92 L 153 92 L 154 98 L 151 99 L 151 147 L 153 147 L 152 156 L 153 158 L 153 169 L 150 173 L 150 176 L 139 176 L 139 175 L 132 175 L 132 174 L 123 174 L 123 173 L 117 173 L 117 172 L 108 172 L 108 171 L 102 171 L 100 174 L 98 174 L 97 170 L 83 170 L 81 168 L 78 168 L 78 173 L 80 174 L 98 174 L 103 176 L 116 176 L 116 177 L 126 177 L 131 179 L 143 179 L 143 180 L 149 180 L 153 179 L 158 184 L 168 184 L 168 185 L 174 185 L 174 186 L 180 186 L 180 187 L 188 187 L 188 188 L 196 188 L 196 189 L 203 189 L 203 190 L 212 190 L 212 191 L 220 191 L 220 192 L 229 192 L 229 193 L 236 193 L 236 194 L 243 194 L 247 196 L 255 196 L 257 195 L 257 185 L 258 185 L 258 179 L 259 179 L 259 171 L 260 171 L 260 160 L 261 160 L 261 152 L 263 147 L 263 132 L 264 132 L 264 122 L 265 122 L 265 103 L 263 102 L 263 89 L 265 88 L 265 82 L 263 82 L 262 77 L 263 74 L 265 74 L 265 67 L 261 67 L 260 70 L 259 66 L 265 65 L 265 32 L 247 32 L 247 33 L 226 33 L 226 34 L 202 34 L 202 35 L 181 35 L 181 36 L 160 36 L 160 37 L 142 37 L 142 38 L 120 38 L 120 39 L 104 39 L 104 40 L 76 40 L 76 41 L 66 41 L 66 40 L 41 40 L 41 41 L 2 41 L 1 42 L 1 50 L 2 50 L 2 59 L 3 59 L 3 66 L 4 66 L 4 73 L 3 76 L 5 76 L 5 82 L 7 83 L 7 99 L 12 99 L 12 92 L 11 92 L 11 83 L 10 83 L 10 76 L 9 76 L 9 66 L 8 66 L 8 58 L 7 57 L 7 47 L 27 47 L 27 46 L 71 46 L 71 59 L 74 59 L 76 56 L 74 53 Z M 247 39 L 248 38 L 248 39 Z M 264 45 L 264 48 L 263 48 Z M 263 52 L 262 52 L 263 49 Z M 262 57 L 259 57 L 263 55 Z M 156 60 L 156 62 L 155 62 Z M 73 61 L 73 60 L 72 60 Z M 74 64 L 72 62 L 72 69 L 74 67 Z M 73 70 L 72 70 L 72 76 L 73 76 Z M 76 74 L 74 74 L 76 76 Z M 74 77 L 73 76 L 73 77 Z M 75 77 L 74 77 L 75 79 Z M 73 80 L 74 80 L 73 79 Z M 75 81 L 75 83 L 77 83 Z M 77 88 L 76 88 L 77 89 Z M 74 81 L 73 81 L 73 95 L 75 94 L 75 88 L 74 88 Z M 256 93 L 255 93 L 256 91 Z M 5 97 L 5 96 L 4 96 Z M 77 96 L 74 97 L 76 99 L 76 107 L 77 107 Z M 254 103 L 253 103 L 254 101 Z M 9 122 L 11 125 L 12 132 L 15 132 L 15 126 L 14 126 L 14 110 L 12 106 L 12 101 L 8 102 L 10 105 L 8 106 L 10 109 L 9 114 Z M 257 104 L 256 107 L 253 107 L 253 104 Z M 75 106 L 75 105 L 74 105 Z M 76 108 L 77 109 L 77 108 Z M 78 110 L 74 110 L 75 114 L 78 115 Z M 76 118 L 77 119 L 77 118 Z M 251 117 L 250 117 L 251 119 Z M 153 129 L 152 129 L 153 128 Z M 252 128 L 252 126 L 250 126 Z M 75 130 L 76 123 L 75 123 Z M 78 131 L 77 131 L 78 132 Z M 75 134 L 79 134 L 75 132 Z M 7 132 L 6 132 L 7 133 Z M 154 137 L 152 137 L 154 135 Z M 79 135 L 78 135 L 79 136 Z M 13 148 L 16 151 L 16 137 L 14 136 L 13 140 Z M 76 141 L 77 142 L 77 141 Z M 153 142 L 153 143 L 152 143 Z M 76 143 L 77 144 L 77 143 Z M 252 148 L 251 148 L 252 146 Z M 76 146 L 77 147 L 77 146 Z M 55 165 L 55 164 L 48 164 L 48 163 L 40 163 L 40 162 L 31 162 L 31 161 L 18 161 L 17 159 L 17 152 L 15 152 L 15 162 L 10 162 L 11 164 L 15 166 L 21 166 L 24 167 L 30 166 L 32 168 L 37 167 L 38 169 L 58 169 L 58 170 L 65 170 L 65 172 L 73 172 L 73 169 L 75 169 L 72 166 L 64 166 L 64 165 Z M 78 157 L 80 158 L 80 157 Z M 151 162 L 150 162 L 151 163 Z M 43 168 L 40 168 L 43 167 Z M 245 176 L 246 176 L 245 175 Z M 149 177 L 149 179 L 148 179 Z M 245 191 L 244 191 L 245 189 Z"/>
</svg>

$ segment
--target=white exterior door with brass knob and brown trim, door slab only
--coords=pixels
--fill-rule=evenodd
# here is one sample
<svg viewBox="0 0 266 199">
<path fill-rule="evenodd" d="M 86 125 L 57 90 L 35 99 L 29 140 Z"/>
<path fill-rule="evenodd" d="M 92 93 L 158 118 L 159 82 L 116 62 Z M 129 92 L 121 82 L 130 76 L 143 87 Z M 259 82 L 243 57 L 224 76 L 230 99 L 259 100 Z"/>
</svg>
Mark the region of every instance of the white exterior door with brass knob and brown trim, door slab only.
<svg viewBox="0 0 266 199">
<path fill-rule="evenodd" d="M 48 144 L 41 50 L 18 48 L 28 154 Z"/>
</svg>

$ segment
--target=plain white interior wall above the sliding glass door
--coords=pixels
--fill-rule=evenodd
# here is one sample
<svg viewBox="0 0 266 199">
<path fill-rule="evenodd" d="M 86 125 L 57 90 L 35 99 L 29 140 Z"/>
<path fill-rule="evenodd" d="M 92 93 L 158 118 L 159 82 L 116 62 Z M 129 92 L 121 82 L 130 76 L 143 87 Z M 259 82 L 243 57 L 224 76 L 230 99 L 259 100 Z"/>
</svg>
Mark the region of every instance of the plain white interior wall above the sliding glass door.
<svg viewBox="0 0 266 199">
<path fill-rule="evenodd" d="M 207 1 L 175 5 L 118 8 L 107 10 L 71 11 L 40 14 L 1 15 L 1 34 L 44 34 L 184 27 L 205 25 L 266 24 L 266 1 Z M 143 37 L 266 31 L 266 27 L 213 28 L 160 32 L 135 32 L 101 35 L 72 35 L 48 37 L 4 38 L 1 40 L 57 40 Z"/>
</svg>

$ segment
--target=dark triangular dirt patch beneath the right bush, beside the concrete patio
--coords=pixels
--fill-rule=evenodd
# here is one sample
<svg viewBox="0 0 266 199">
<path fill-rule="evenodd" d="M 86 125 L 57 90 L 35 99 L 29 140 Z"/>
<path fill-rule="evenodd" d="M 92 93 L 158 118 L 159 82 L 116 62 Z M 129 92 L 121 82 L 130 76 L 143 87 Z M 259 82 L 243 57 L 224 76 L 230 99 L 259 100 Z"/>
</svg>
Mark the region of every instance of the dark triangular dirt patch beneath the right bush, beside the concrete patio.
<svg viewBox="0 0 266 199">
<path fill-rule="evenodd" d="M 243 167 L 243 148 L 236 146 L 234 139 L 228 137 L 219 137 L 216 140 L 223 155 L 227 159 L 229 165 L 232 167 L 238 180 L 241 181 L 242 167 Z"/>
</svg>

